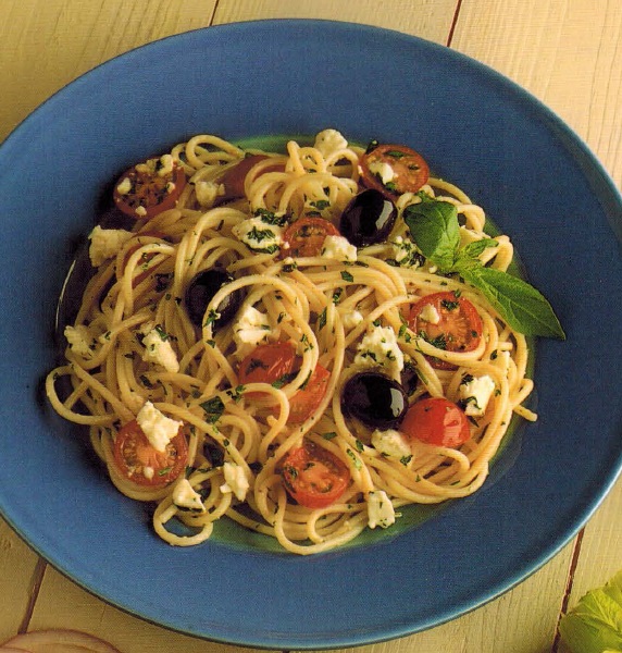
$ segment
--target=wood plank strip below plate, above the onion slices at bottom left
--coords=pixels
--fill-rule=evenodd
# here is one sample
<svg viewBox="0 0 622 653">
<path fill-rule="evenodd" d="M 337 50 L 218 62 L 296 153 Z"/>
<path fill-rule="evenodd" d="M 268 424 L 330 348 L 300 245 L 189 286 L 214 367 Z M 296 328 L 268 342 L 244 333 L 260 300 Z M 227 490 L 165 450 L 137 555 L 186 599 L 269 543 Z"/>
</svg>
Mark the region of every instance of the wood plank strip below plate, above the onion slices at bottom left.
<svg viewBox="0 0 622 653">
<path fill-rule="evenodd" d="M 48 567 L 29 624 L 74 628 L 114 644 L 122 653 L 244 653 L 249 649 L 186 637 L 153 626 L 99 601 Z"/>
</svg>

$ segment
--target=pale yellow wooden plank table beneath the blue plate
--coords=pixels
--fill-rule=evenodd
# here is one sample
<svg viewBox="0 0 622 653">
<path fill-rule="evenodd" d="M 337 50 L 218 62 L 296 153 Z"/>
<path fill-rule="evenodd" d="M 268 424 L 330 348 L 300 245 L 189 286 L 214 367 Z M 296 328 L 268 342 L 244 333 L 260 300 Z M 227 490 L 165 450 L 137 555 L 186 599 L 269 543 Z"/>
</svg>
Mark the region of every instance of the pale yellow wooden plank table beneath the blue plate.
<svg viewBox="0 0 622 653">
<path fill-rule="evenodd" d="M 271 17 L 368 23 L 469 54 L 556 111 L 622 186 L 622 3 L 613 0 L 3 0 L 0 139 L 64 84 L 121 52 L 188 29 Z M 619 481 L 584 531 L 511 592 L 450 624 L 357 651 L 563 652 L 560 614 L 622 568 L 621 542 Z M 57 627 L 99 636 L 123 653 L 246 650 L 119 612 L 58 574 L 1 519 L 0 596 L 0 641 Z"/>
</svg>

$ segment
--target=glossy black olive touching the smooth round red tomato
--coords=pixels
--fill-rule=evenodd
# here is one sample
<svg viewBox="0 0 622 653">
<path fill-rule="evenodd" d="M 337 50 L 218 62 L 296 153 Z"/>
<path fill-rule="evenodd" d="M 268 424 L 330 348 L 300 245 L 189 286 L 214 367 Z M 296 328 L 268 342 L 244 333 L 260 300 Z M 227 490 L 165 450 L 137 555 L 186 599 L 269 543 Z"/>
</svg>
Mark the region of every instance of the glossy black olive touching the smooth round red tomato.
<svg viewBox="0 0 622 653">
<path fill-rule="evenodd" d="M 381 372 L 359 372 L 348 379 L 341 392 L 341 410 L 372 429 L 393 429 L 408 409 L 403 387 Z"/>
</svg>

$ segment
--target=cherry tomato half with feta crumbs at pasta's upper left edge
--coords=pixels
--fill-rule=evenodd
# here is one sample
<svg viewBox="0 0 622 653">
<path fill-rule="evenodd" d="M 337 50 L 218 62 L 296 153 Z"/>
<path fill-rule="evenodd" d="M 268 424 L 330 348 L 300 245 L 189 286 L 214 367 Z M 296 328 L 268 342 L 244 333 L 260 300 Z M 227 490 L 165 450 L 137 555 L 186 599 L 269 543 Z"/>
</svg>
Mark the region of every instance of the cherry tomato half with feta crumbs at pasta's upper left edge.
<svg viewBox="0 0 622 653">
<path fill-rule="evenodd" d="M 185 186 L 186 173 L 177 164 L 169 170 L 162 159 L 148 159 L 119 177 L 112 198 L 126 215 L 148 220 L 174 208 Z"/>
</svg>

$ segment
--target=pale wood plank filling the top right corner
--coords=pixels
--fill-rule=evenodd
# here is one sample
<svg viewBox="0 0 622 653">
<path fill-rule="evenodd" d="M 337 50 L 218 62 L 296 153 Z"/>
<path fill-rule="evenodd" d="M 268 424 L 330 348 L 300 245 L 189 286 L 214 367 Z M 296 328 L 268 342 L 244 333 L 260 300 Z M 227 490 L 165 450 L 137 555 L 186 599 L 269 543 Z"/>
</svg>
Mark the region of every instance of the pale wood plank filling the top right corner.
<svg viewBox="0 0 622 653">
<path fill-rule="evenodd" d="M 622 3 L 463 0 L 452 47 L 543 100 L 622 188 Z"/>
</svg>

